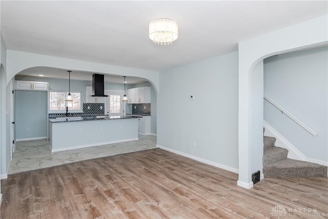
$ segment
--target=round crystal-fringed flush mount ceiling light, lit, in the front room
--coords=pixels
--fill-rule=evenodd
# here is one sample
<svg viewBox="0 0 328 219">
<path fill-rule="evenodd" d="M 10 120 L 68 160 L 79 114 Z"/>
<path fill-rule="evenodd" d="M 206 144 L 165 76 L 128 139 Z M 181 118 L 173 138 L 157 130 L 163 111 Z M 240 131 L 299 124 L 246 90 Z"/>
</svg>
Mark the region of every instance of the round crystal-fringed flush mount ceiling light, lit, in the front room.
<svg viewBox="0 0 328 219">
<path fill-rule="evenodd" d="M 178 25 L 170 18 L 158 18 L 149 23 L 149 38 L 156 44 L 171 44 L 178 38 Z"/>
</svg>

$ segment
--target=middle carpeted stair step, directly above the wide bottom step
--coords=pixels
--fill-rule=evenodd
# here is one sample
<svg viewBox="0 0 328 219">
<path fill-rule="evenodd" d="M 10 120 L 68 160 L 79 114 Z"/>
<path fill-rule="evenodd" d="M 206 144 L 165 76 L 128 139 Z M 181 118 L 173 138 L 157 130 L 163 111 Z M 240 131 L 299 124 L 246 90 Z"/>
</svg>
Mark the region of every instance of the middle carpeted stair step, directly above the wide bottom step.
<svg viewBox="0 0 328 219">
<path fill-rule="evenodd" d="M 270 164 L 285 160 L 288 155 L 288 150 L 273 146 L 272 148 L 263 151 L 263 167 Z"/>
</svg>

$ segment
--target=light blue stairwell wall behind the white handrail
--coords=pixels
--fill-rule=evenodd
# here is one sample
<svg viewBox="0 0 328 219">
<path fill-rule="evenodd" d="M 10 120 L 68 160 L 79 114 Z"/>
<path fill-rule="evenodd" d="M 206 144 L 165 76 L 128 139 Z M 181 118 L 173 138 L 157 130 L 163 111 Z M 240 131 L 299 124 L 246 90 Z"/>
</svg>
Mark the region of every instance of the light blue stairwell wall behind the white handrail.
<svg viewBox="0 0 328 219">
<path fill-rule="evenodd" d="M 264 93 L 318 133 L 308 131 L 264 101 L 264 120 L 305 156 L 327 161 L 327 47 L 264 59 Z"/>
</svg>

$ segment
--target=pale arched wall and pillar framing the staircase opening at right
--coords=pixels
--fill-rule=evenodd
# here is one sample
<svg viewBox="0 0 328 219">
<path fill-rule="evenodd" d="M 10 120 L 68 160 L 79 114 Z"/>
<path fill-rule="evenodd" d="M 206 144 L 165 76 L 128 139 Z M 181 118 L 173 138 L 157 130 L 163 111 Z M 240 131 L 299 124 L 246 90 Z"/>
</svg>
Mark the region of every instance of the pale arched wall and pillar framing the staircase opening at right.
<svg viewBox="0 0 328 219">
<path fill-rule="evenodd" d="M 284 52 L 326 44 L 328 15 L 256 36 L 238 43 L 238 152 L 239 176 L 237 185 L 252 188 L 252 130 L 254 116 L 251 103 L 250 79 L 254 67 L 262 59 Z M 257 96 L 257 95 L 256 95 Z M 255 97 L 255 96 L 254 96 Z M 257 101 L 263 101 L 258 98 Z"/>
</svg>

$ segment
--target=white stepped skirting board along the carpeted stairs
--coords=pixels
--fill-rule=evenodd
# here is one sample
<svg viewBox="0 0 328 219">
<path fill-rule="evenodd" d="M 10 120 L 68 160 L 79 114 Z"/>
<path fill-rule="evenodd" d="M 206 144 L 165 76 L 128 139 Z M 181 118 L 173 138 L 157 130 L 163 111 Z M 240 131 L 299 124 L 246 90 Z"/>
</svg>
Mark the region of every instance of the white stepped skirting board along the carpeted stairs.
<svg viewBox="0 0 328 219">
<path fill-rule="evenodd" d="M 282 136 L 275 128 L 270 126 L 269 123 L 263 121 L 263 126 L 265 128 L 265 136 L 275 137 L 277 139 L 276 146 L 288 149 L 288 158 L 328 166 L 328 162 L 326 161 L 320 161 L 310 157 L 306 157 L 291 142 L 289 142 L 284 136 Z"/>
</svg>

